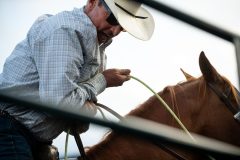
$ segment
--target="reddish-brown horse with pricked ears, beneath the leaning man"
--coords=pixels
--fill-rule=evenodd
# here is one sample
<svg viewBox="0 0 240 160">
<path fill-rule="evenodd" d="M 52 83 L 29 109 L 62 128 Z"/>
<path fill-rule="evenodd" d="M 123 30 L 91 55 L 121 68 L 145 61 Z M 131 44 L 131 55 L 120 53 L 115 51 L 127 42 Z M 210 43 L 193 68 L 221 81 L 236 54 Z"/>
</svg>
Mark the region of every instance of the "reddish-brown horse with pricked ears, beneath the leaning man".
<svg viewBox="0 0 240 160">
<path fill-rule="evenodd" d="M 199 57 L 199 65 L 203 76 L 194 78 L 184 72 L 187 81 L 165 87 L 158 94 L 172 106 L 172 110 L 190 132 L 240 146 L 240 125 L 217 95 L 226 94 L 228 103 L 234 106 L 233 109 L 238 109 L 238 95 L 234 86 L 214 69 L 203 52 Z M 209 86 L 219 93 L 216 94 Z M 155 96 L 128 115 L 179 128 Z M 90 147 L 87 157 L 89 160 L 206 159 L 203 155 L 176 147 L 166 150 L 152 142 L 114 131 L 99 144 Z"/>
</svg>

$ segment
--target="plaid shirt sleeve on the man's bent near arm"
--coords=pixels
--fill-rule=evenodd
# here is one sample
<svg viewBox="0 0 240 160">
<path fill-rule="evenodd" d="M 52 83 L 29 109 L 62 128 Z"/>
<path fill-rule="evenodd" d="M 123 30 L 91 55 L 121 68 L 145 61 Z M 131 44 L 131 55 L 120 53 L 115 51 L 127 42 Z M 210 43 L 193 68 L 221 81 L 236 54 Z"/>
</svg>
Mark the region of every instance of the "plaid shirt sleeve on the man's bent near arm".
<svg viewBox="0 0 240 160">
<path fill-rule="evenodd" d="M 106 88 L 101 73 L 80 82 L 84 64 L 79 36 L 71 29 L 58 29 L 34 44 L 34 60 L 39 72 L 41 101 L 81 108 L 86 100 L 97 100 Z M 89 74 L 89 73 L 88 73 Z"/>
</svg>

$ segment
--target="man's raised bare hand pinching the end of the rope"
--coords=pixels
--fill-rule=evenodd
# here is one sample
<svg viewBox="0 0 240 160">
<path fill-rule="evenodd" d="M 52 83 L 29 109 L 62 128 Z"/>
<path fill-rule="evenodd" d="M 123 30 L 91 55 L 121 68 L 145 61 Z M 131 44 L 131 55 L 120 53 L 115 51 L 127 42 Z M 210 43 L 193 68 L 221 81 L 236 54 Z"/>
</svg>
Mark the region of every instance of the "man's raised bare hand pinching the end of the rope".
<svg viewBox="0 0 240 160">
<path fill-rule="evenodd" d="M 130 72 L 129 69 L 107 69 L 102 74 L 107 81 L 107 87 L 117 87 L 130 79 Z"/>
</svg>

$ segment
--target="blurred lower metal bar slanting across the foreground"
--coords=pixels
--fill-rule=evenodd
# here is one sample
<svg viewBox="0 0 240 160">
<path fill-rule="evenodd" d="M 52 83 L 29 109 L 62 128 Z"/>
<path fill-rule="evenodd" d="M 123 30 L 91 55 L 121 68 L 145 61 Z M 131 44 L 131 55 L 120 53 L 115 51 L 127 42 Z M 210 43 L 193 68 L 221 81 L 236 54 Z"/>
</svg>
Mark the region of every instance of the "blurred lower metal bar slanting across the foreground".
<svg viewBox="0 0 240 160">
<path fill-rule="evenodd" d="M 145 138 L 155 143 L 158 142 L 162 144 L 179 146 L 181 148 L 187 149 L 188 151 L 190 150 L 197 153 L 209 154 L 212 156 L 221 156 L 226 158 L 240 158 L 239 147 L 205 138 L 193 133 L 192 134 L 197 140 L 197 143 L 192 142 L 186 134 L 178 129 L 169 128 L 167 126 L 163 126 L 136 117 L 125 118 L 119 123 L 110 122 L 96 117 L 90 117 L 86 113 L 79 112 L 74 109 L 74 106 L 44 105 L 29 100 L 22 100 L 10 95 L 6 95 L 6 93 L 2 92 L 0 92 L 0 101 L 10 103 L 14 102 L 15 104 L 47 112 L 68 120 L 95 123 L 98 125 L 110 127 L 117 132 L 132 134 L 135 137 L 138 136 L 140 138 Z M 69 108 L 71 108 L 71 110 Z"/>
</svg>

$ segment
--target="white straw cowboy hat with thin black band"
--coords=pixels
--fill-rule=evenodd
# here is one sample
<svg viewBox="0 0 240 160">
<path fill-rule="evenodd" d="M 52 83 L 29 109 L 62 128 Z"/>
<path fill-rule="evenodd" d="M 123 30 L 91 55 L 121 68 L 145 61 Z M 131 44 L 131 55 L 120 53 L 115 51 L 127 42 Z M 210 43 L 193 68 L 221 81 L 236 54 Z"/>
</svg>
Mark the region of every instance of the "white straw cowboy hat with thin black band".
<svg viewBox="0 0 240 160">
<path fill-rule="evenodd" d="M 154 31 L 152 15 L 134 0 L 104 0 L 119 24 L 140 40 L 149 40 Z"/>
</svg>

